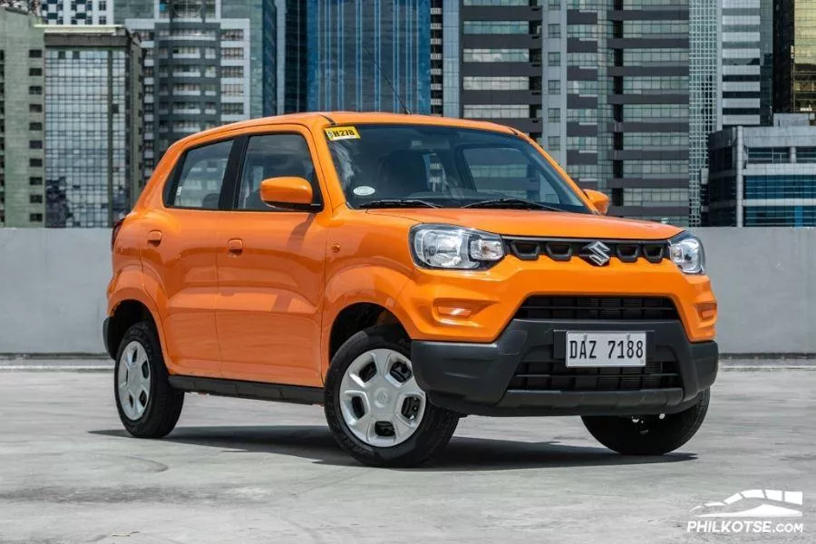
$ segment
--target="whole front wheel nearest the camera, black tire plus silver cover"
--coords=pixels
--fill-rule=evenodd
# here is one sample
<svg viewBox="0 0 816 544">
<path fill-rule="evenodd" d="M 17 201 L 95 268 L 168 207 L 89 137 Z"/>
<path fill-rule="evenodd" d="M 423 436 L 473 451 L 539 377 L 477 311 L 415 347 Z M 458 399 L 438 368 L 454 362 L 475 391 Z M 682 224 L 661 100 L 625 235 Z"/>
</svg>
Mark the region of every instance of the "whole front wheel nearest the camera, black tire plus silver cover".
<svg viewBox="0 0 816 544">
<path fill-rule="evenodd" d="M 459 415 L 428 402 L 413 375 L 402 327 L 373 326 L 337 350 L 326 375 L 325 418 L 358 461 L 416 466 L 451 440 Z"/>
</svg>

